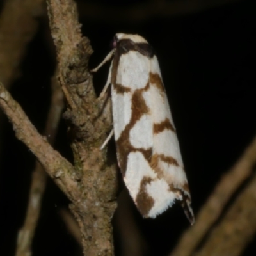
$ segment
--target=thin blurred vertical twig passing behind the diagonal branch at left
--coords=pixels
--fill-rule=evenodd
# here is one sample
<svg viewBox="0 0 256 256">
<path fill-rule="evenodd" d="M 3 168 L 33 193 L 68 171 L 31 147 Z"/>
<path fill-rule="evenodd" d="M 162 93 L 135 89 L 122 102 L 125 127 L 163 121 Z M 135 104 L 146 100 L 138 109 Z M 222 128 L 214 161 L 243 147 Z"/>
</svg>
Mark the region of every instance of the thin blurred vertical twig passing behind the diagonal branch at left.
<svg viewBox="0 0 256 256">
<path fill-rule="evenodd" d="M 51 144 L 54 143 L 63 107 L 63 92 L 61 91 L 60 84 L 56 81 L 56 76 L 54 76 L 52 77 L 51 106 L 44 132 L 47 136 L 47 140 Z M 31 245 L 41 210 L 42 196 L 44 195 L 46 180 L 47 173 L 42 165 L 36 161 L 35 170 L 33 170 L 32 173 L 26 219 L 18 234 L 16 256 L 32 255 Z"/>
</svg>

